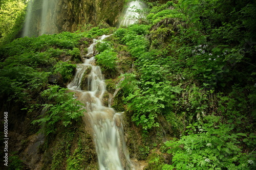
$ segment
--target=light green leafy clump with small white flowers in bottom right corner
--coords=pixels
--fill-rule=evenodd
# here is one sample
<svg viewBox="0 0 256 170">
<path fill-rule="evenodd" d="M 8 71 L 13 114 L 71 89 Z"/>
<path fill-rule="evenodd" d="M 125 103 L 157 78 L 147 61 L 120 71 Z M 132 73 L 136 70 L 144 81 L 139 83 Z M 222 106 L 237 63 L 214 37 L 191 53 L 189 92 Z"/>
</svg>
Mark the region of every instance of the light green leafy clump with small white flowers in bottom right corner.
<svg viewBox="0 0 256 170">
<path fill-rule="evenodd" d="M 173 154 L 169 169 L 251 169 L 255 153 L 244 153 L 239 147 L 244 133 L 232 133 L 232 127 L 220 123 L 220 117 L 206 116 L 206 123 L 187 126 L 188 136 L 165 144 Z M 164 168 L 163 168 L 164 169 Z"/>
</svg>

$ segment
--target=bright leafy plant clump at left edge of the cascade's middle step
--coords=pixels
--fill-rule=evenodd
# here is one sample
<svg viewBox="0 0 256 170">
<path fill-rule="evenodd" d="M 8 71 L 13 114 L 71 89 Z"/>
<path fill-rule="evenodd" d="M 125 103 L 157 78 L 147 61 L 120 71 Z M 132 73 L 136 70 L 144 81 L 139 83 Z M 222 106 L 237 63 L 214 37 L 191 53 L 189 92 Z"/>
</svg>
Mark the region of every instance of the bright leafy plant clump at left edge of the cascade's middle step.
<svg viewBox="0 0 256 170">
<path fill-rule="evenodd" d="M 72 124 L 72 120 L 79 120 L 84 114 L 82 104 L 73 98 L 72 93 L 67 93 L 66 88 L 51 86 L 42 91 L 42 98 L 47 104 L 42 105 L 45 115 L 42 118 L 34 120 L 33 124 L 45 125 L 45 133 L 48 135 L 55 131 L 56 123 L 60 122 L 65 127 Z"/>
</svg>

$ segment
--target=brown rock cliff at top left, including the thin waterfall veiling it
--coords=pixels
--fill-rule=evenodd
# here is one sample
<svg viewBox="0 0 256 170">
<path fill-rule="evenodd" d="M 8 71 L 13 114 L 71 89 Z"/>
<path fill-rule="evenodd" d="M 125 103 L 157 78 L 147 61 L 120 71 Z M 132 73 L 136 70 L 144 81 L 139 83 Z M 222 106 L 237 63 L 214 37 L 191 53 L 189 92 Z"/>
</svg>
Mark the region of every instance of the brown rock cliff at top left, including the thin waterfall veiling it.
<svg viewBox="0 0 256 170">
<path fill-rule="evenodd" d="M 35 0 L 30 3 L 27 12 L 29 31 L 24 36 L 75 32 L 88 24 L 96 26 L 102 21 L 115 26 L 124 6 L 124 0 Z"/>
</svg>

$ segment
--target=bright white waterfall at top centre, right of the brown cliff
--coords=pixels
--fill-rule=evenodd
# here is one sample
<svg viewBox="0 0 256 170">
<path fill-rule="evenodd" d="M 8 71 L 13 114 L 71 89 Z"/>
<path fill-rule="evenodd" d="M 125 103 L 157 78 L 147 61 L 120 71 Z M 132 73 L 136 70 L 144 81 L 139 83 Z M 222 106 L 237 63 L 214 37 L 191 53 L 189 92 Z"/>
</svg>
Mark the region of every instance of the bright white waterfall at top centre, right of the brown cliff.
<svg viewBox="0 0 256 170">
<path fill-rule="evenodd" d="M 127 8 L 124 9 L 123 14 L 120 17 L 119 26 L 129 26 L 136 23 L 140 17 L 139 11 L 146 7 L 146 4 L 141 1 L 131 1 L 127 4 Z"/>
</svg>

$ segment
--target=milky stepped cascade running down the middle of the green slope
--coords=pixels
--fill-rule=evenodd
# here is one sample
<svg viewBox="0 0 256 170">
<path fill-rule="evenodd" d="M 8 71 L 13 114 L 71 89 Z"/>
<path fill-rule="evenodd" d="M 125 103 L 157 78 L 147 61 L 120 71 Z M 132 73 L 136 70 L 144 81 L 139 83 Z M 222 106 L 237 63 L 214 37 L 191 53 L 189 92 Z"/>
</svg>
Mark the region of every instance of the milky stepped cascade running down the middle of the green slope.
<svg viewBox="0 0 256 170">
<path fill-rule="evenodd" d="M 100 40 L 108 36 L 101 36 Z M 100 41 L 99 40 L 99 41 Z M 77 72 L 68 88 L 78 94 L 78 100 L 86 105 L 87 112 L 84 114 L 85 121 L 89 121 L 94 133 L 94 141 L 98 156 L 100 170 L 133 169 L 123 135 L 121 113 L 102 105 L 105 92 L 104 77 L 99 66 L 92 65 L 94 62 L 94 43 L 88 48 L 87 57 L 83 64 L 77 64 Z M 91 69 L 88 75 L 88 91 L 81 90 L 83 74 Z"/>
</svg>

